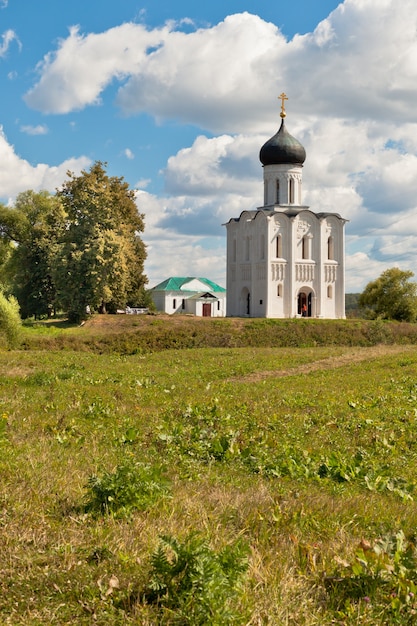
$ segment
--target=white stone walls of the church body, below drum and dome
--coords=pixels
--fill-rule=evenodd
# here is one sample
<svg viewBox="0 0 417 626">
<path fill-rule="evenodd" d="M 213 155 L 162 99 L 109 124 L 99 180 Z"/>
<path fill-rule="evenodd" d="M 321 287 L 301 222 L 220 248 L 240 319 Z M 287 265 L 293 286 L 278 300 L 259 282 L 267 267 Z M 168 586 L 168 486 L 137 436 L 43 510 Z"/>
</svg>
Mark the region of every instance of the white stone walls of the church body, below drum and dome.
<svg viewBox="0 0 417 626">
<path fill-rule="evenodd" d="M 296 317 L 303 293 L 311 317 L 344 317 L 344 223 L 307 207 L 266 207 L 230 220 L 226 314 Z"/>
</svg>

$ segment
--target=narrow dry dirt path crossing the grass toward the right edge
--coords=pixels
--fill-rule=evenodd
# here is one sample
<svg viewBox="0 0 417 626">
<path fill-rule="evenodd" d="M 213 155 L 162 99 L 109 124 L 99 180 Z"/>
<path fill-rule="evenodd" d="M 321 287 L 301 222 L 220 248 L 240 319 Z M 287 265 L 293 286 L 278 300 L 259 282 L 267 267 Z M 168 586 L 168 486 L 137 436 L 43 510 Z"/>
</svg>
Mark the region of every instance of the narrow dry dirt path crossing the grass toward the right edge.
<svg viewBox="0 0 417 626">
<path fill-rule="evenodd" d="M 305 363 L 303 365 L 297 365 L 285 370 L 268 370 L 263 372 L 253 372 L 247 376 L 240 376 L 231 378 L 229 380 L 235 382 L 258 382 L 265 378 L 281 378 L 283 376 L 297 376 L 299 374 L 309 374 L 310 372 L 316 372 L 319 370 L 335 369 L 337 367 L 343 367 L 344 365 L 350 365 L 352 363 L 360 363 L 362 361 L 371 361 L 372 359 L 381 358 L 384 356 L 391 356 L 395 354 L 417 354 L 416 346 L 372 346 L 371 348 L 352 348 L 346 354 L 340 354 L 338 356 L 331 356 L 326 359 L 320 359 L 319 361 L 313 361 L 312 363 Z"/>
</svg>

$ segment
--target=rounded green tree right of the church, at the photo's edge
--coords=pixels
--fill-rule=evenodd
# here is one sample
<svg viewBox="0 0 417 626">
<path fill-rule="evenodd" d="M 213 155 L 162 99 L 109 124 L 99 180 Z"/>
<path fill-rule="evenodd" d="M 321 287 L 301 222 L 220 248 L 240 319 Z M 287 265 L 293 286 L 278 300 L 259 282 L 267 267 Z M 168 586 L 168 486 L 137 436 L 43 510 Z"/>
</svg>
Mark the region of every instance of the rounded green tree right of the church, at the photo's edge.
<svg viewBox="0 0 417 626">
<path fill-rule="evenodd" d="M 382 272 L 359 297 L 359 306 L 368 318 L 414 322 L 417 318 L 417 284 L 411 271 L 397 267 Z"/>
</svg>

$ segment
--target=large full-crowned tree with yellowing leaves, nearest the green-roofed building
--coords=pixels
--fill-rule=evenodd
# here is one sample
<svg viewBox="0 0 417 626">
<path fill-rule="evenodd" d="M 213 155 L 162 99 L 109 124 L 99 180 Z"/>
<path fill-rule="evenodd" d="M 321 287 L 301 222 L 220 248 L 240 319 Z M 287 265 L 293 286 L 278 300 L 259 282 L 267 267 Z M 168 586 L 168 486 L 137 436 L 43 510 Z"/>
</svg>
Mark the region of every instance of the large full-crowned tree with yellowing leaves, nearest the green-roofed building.
<svg viewBox="0 0 417 626">
<path fill-rule="evenodd" d="M 104 313 L 138 304 L 146 250 L 134 191 L 99 161 L 68 177 L 57 192 L 67 214 L 55 275 L 59 302 L 72 321 L 83 319 L 87 306 Z"/>
</svg>

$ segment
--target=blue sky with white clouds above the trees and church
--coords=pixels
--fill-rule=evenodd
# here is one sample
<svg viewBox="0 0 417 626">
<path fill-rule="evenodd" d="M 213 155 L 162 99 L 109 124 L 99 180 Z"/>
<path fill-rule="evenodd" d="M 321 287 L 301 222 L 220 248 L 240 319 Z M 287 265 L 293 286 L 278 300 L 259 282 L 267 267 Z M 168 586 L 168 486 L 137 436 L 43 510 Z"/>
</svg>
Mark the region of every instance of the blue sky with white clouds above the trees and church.
<svg viewBox="0 0 417 626">
<path fill-rule="evenodd" d="M 225 286 L 281 92 L 302 203 L 348 220 L 346 291 L 417 275 L 415 0 L 0 0 L 0 201 L 104 162 L 136 190 L 148 287 Z"/>
</svg>

